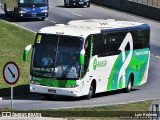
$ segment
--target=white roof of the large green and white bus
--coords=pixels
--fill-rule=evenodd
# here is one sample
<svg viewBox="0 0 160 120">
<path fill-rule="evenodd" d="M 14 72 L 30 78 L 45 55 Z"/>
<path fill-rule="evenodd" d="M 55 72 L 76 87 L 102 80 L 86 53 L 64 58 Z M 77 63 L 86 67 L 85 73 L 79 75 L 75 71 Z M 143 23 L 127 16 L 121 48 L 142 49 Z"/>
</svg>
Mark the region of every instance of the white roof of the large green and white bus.
<svg viewBox="0 0 160 120">
<path fill-rule="evenodd" d="M 144 23 L 116 21 L 113 19 L 73 20 L 67 24 L 56 24 L 55 26 L 44 27 L 39 30 L 39 33 L 79 36 L 86 38 L 89 34 L 136 28 L 149 28 L 149 26 Z"/>
</svg>

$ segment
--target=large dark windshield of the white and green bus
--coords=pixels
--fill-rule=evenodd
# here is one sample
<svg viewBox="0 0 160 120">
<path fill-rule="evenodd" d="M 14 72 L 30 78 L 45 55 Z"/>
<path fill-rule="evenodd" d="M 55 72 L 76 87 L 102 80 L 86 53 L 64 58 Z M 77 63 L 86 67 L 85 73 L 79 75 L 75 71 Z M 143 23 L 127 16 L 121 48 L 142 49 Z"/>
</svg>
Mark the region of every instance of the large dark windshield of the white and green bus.
<svg viewBox="0 0 160 120">
<path fill-rule="evenodd" d="M 79 78 L 79 56 L 83 38 L 37 35 L 32 56 L 31 75 L 57 79 Z"/>
</svg>

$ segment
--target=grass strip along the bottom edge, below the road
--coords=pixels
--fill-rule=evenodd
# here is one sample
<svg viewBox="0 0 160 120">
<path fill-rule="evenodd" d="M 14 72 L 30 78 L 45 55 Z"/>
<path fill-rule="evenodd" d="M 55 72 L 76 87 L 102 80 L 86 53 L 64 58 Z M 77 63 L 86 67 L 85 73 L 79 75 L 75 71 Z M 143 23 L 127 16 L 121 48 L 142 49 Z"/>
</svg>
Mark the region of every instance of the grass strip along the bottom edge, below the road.
<svg viewBox="0 0 160 120">
<path fill-rule="evenodd" d="M 60 117 L 69 120 L 119 120 L 121 115 L 135 115 L 135 113 L 148 113 L 152 101 L 134 102 L 128 104 L 118 104 L 97 107 L 81 107 L 67 109 L 29 110 L 20 112 L 41 113 L 43 117 Z M 11 108 L 0 109 L 3 111 L 16 111 Z M 123 120 L 123 119 L 121 119 Z M 136 119 L 138 120 L 138 119 Z M 141 119 L 143 120 L 143 119 Z"/>
</svg>

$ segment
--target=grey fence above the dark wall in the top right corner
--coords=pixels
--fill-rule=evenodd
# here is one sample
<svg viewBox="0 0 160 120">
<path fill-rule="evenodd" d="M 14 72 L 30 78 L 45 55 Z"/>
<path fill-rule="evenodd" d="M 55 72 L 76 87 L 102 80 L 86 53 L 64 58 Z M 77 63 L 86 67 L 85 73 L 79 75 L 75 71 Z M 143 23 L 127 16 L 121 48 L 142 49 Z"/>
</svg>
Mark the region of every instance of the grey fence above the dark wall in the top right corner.
<svg viewBox="0 0 160 120">
<path fill-rule="evenodd" d="M 160 0 L 128 0 L 128 1 L 132 1 L 132 2 L 136 2 L 136 3 L 160 8 Z"/>
</svg>

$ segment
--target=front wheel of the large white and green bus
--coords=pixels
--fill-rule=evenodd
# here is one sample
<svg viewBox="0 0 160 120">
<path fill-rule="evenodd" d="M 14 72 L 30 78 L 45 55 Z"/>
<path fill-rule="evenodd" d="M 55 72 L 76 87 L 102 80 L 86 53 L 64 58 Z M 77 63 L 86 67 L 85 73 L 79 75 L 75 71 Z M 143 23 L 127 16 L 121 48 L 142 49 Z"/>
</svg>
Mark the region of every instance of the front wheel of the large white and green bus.
<svg viewBox="0 0 160 120">
<path fill-rule="evenodd" d="M 93 98 L 94 95 L 95 95 L 95 92 L 96 92 L 96 80 L 93 79 L 91 84 L 90 84 L 89 92 L 88 92 L 88 95 L 86 96 L 86 98 L 87 99 Z"/>
</svg>

